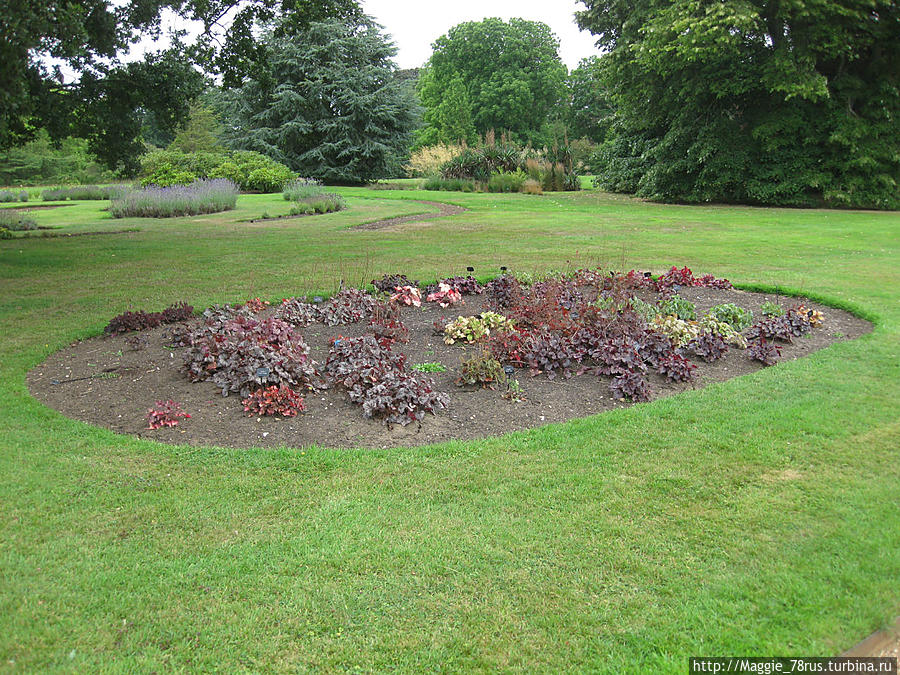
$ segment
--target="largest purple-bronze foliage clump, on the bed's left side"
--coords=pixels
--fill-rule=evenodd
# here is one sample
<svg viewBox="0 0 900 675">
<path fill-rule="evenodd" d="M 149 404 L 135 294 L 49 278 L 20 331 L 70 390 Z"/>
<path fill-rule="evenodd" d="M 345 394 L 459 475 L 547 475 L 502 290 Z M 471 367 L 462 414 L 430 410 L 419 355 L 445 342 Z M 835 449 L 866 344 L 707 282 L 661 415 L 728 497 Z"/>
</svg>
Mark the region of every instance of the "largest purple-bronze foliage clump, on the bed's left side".
<svg viewBox="0 0 900 675">
<path fill-rule="evenodd" d="M 193 382 L 212 378 L 223 396 L 240 392 L 246 398 L 254 389 L 270 385 L 321 387 L 309 347 L 281 319 L 243 314 L 223 322 L 210 319 L 190 336 L 188 344 L 185 373 Z"/>
</svg>

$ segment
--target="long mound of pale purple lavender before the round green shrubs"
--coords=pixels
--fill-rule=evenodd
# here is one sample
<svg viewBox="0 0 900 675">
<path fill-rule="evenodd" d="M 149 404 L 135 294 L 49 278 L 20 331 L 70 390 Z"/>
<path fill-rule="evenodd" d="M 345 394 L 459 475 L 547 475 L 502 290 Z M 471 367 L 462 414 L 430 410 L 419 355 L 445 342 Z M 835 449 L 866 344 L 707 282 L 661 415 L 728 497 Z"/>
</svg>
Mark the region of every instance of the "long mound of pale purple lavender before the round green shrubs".
<svg viewBox="0 0 900 675">
<path fill-rule="evenodd" d="M 238 188 L 230 180 L 198 180 L 191 185 L 134 190 L 109 205 L 113 218 L 174 218 L 229 211 L 237 204 Z"/>
</svg>

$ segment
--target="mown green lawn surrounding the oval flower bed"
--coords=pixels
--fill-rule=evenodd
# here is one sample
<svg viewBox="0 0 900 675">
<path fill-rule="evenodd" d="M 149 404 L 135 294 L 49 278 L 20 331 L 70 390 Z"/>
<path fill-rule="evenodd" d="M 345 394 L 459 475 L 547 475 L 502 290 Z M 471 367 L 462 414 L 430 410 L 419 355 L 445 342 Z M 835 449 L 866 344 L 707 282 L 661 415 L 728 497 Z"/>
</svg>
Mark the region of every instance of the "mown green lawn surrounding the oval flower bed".
<svg viewBox="0 0 900 675">
<path fill-rule="evenodd" d="M 0 242 L 0 668 L 681 673 L 835 654 L 898 614 L 900 215 L 338 192 L 347 211 L 257 224 L 239 221 L 289 204 L 149 222 L 78 204 L 35 217 L 140 231 Z M 348 229 L 411 199 L 470 211 Z M 598 264 L 686 264 L 877 325 L 650 404 L 405 450 L 156 444 L 24 384 L 128 307 Z"/>
</svg>

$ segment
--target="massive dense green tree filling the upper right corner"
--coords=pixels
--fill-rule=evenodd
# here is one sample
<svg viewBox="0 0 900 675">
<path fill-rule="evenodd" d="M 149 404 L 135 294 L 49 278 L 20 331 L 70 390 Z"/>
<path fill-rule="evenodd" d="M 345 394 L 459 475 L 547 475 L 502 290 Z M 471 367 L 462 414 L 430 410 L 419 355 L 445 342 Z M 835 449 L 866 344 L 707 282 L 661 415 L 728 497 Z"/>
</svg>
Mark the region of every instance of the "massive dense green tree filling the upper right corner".
<svg viewBox="0 0 900 675">
<path fill-rule="evenodd" d="M 600 184 L 900 208 L 895 0 L 582 0 L 615 121 Z"/>
</svg>

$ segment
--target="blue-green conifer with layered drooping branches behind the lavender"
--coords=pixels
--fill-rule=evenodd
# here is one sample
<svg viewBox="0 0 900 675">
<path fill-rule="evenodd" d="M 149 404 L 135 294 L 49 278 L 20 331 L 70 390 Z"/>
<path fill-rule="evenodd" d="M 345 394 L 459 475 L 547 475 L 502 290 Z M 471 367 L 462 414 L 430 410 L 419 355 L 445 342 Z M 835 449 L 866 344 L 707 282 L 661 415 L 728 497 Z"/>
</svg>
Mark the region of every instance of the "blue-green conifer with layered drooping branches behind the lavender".
<svg viewBox="0 0 900 675">
<path fill-rule="evenodd" d="M 264 45 L 266 70 L 224 106 L 233 146 L 329 183 L 399 175 L 417 106 L 372 19 L 314 22 L 290 37 L 272 32 Z"/>
</svg>

